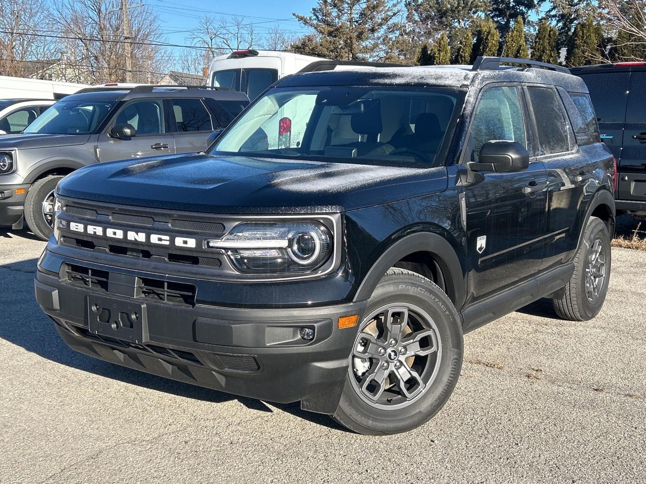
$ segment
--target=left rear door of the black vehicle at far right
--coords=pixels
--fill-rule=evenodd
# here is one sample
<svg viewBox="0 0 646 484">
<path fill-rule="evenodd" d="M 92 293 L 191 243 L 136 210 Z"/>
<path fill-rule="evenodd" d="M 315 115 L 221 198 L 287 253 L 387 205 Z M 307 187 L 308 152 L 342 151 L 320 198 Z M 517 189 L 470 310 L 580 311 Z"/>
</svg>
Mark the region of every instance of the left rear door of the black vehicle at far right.
<svg viewBox="0 0 646 484">
<path fill-rule="evenodd" d="M 622 156 L 621 144 L 624 141 L 623 123 L 630 73 L 627 71 L 599 72 L 580 74 L 580 76 L 590 90 L 590 98 L 599 121 L 601 141 L 619 160 Z"/>
</svg>

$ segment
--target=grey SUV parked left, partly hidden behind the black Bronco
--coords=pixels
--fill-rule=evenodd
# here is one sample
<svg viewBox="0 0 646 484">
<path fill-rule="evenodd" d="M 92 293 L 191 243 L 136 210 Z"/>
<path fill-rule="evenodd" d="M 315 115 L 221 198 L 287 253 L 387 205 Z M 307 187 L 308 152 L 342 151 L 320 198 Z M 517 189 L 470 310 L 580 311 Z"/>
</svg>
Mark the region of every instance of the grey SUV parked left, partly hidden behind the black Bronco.
<svg viewBox="0 0 646 484">
<path fill-rule="evenodd" d="M 0 225 L 46 240 L 54 188 L 77 168 L 103 161 L 202 151 L 249 104 L 223 88 L 88 88 L 48 108 L 22 134 L 0 139 Z M 24 217 L 23 217 L 24 216 Z"/>
</svg>

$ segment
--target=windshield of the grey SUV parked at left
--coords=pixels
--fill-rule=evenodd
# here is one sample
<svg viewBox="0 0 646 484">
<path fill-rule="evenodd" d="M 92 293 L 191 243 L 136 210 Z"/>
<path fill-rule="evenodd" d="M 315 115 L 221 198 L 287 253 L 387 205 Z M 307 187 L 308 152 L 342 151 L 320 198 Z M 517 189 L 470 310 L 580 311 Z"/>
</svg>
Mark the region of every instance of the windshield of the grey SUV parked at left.
<svg viewBox="0 0 646 484">
<path fill-rule="evenodd" d="M 116 101 L 58 101 L 50 106 L 25 133 L 90 134 L 98 128 Z"/>
</svg>

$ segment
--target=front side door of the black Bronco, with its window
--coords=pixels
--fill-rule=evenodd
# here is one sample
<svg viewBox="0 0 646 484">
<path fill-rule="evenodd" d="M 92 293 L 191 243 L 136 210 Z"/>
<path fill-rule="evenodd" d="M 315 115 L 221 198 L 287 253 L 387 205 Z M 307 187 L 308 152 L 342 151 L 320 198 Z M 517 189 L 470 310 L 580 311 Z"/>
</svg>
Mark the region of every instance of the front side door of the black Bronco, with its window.
<svg viewBox="0 0 646 484">
<path fill-rule="evenodd" d="M 487 141 L 528 147 L 525 109 L 516 86 L 488 88 L 469 128 L 466 159 L 479 159 Z M 467 303 L 490 296 L 539 271 L 545 245 L 547 175 L 532 161 L 523 172 L 479 172 L 464 187 L 468 257 Z"/>
</svg>

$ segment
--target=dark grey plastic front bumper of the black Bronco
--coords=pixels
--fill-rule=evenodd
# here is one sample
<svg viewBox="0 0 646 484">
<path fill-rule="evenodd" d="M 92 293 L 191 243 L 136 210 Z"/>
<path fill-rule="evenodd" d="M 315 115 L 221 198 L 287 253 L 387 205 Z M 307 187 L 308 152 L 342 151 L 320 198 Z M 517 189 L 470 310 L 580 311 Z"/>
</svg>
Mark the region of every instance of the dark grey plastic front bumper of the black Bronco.
<svg viewBox="0 0 646 484">
<path fill-rule="evenodd" d="M 40 307 L 74 350 L 239 396 L 300 400 L 303 408 L 322 413 L 337 407 L 357 332 L 357 327 L 339 329 L 337 320 L 351 314 L 360 318 L 366 305 L 249 309 L 147 301 L 147 341 L 136 344 L 89 331 L 87 301 L 96 290 L 70 284 L 63 269 L 59 276 L 39 270 L 35 285 Z M 302 327 L 315 328 L 313 341 L 300 338 Z"/>
</svg>

